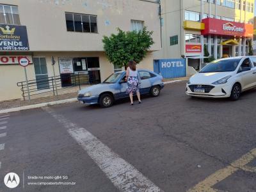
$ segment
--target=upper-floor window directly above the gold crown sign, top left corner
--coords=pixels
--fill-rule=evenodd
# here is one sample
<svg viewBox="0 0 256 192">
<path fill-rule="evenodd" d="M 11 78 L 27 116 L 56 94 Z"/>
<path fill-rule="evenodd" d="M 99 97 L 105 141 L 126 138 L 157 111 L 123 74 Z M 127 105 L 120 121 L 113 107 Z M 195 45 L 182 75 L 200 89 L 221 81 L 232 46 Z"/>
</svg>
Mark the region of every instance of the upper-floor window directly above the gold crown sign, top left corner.
<svg viewBox="0 0 256 192">
<path fill-rule="evenodd" d="M 0 24 L 20 25 L 18 6 L 0 4 Z"/>
</svg>

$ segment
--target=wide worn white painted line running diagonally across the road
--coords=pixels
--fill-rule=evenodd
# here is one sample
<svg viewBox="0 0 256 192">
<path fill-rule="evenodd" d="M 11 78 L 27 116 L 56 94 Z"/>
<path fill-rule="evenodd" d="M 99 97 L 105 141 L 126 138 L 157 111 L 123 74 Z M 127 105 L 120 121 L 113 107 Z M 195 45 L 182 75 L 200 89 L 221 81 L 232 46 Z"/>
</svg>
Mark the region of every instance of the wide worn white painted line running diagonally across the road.
<svg viewBox="0 0 256 192">
<path fill-rule="evenodd" d="M 49 107 L 45 107 L 44 110 L 68 129 L 71 137 L 83 147 L 84 151 L 120 191 L 162 191 L 134 166 L 100 142 L 92 133 L 84 128 L 79 128 L 76 124 L 65 119 L 63 115 L 56 114 Z"/>
</svg>

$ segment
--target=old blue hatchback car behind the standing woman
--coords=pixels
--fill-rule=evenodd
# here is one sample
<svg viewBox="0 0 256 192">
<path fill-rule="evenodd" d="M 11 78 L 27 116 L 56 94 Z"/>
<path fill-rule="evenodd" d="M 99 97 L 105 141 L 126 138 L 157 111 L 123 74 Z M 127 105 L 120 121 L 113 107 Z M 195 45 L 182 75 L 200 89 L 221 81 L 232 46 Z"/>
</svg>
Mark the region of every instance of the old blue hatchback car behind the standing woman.
<svg viewBox="0 0 256 192">
<path fill-rule="evenodd" d="M 159 96 L 160 90 L 164 87 L 161 75 L 148 70 L 138 70 L 138 76 L 140 94 Z M 125 71 L 113 73 L 102 84 L 81 89 L 77 100 L 87 105 L 99 104 L 100 107 L 111 107 L 115 100 L 129 97 L 126 87 Z"/>
</svg>

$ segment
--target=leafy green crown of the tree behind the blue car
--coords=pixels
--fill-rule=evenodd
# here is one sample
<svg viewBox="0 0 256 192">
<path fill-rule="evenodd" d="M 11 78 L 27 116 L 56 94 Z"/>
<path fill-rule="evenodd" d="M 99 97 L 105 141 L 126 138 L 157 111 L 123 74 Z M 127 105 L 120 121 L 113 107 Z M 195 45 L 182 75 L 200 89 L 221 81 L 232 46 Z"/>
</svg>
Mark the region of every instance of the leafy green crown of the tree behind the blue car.
<svg viewBox="0 0 256 192">
<path fill-rule="evenodd" d="M 116 67 L 127 68 L 130 60 L 140 63 L 147 55 L 147 51 L 154 44 L 152 39 L 153 31 L 122 31 L 117 29 L 117 34 L 103 37 L 104 50 L 108 60 Z"/>
</svg>

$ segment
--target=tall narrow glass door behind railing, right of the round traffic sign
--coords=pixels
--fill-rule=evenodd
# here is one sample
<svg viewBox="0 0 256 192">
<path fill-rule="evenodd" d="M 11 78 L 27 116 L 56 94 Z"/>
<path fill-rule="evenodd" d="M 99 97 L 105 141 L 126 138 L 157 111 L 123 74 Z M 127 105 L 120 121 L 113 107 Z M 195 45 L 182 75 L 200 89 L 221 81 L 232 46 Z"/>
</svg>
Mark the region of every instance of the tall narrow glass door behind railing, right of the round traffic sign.
<svg viewBox="0 0 256 192">
<path fill-rule="evenodd" d="M 45 57 L 33 57 L 38 90 L 49 89 L 49 79 Z"/>
</svg>

